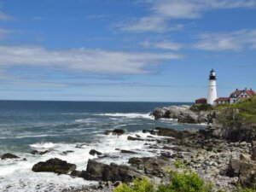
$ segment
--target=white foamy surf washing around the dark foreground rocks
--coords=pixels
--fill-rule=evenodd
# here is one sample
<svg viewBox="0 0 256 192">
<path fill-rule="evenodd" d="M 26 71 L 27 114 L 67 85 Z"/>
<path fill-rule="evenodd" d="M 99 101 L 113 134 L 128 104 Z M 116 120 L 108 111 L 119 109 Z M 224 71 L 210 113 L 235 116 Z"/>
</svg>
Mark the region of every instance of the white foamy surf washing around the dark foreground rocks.
<svg viewBox="0 0 256 192">
<path fill-rule="evenodd" d="M 100 161 L 109 164 L 115 162 L 117 164 L 127 164 L 131 157 L 153 156 L 149 148 L 144 146 L 144 141 L 130 141 L 128 136 L 136 137 L 140 135 L 147 138 L 149 133 L 143 134 L 142 131 L 124 134 L 122 136 L 103 136 L 98 135 L 94 143 L 84 145 L 84 148 L 75 148 L 79 143 L 33 143 L 32 148 L 43 150 L 51 148 L 49 153 L 44 155 L 32 155 L 28 153 L 17 154 L 20 159 L 25 160 L 0 160 L 0 186 L 6 191 L 32 192 L 32 191 L 61 191 L 70 187 L 79 188 L 91 182 L 82 178 L 72 178 L 67 175 L 58 176 L 50 172 L 32 172 L 32 166 L 38 161 L 45 161 L 51 158 L 59 158 L 67 160 L 77 166 L 77 170 L 86 169 L 89 159 L 96 158 L 89 154 L 90 149 L 96 149 L 103 154 L 116 156 L 116 158 L 102 158 Z M 157 136 L 154 136 L 157 137 Z M 148 142 L 147 142 L 148 143 Z M 152 142 L 154 143 L 154 142 Z M 116 148 L 126 149 L 137 152 L 137 154 L 121 154 Z M 73 151 L 72 153 L 63 154 L 64 151 Z"/>
</svg>

